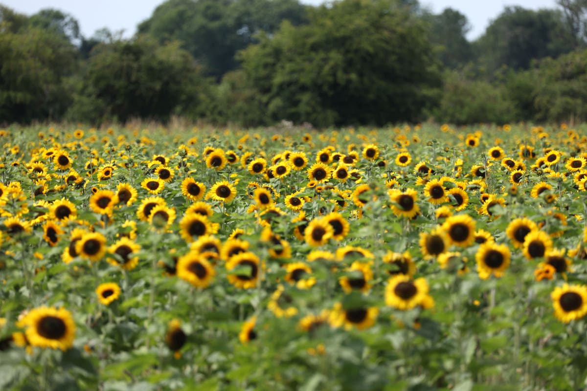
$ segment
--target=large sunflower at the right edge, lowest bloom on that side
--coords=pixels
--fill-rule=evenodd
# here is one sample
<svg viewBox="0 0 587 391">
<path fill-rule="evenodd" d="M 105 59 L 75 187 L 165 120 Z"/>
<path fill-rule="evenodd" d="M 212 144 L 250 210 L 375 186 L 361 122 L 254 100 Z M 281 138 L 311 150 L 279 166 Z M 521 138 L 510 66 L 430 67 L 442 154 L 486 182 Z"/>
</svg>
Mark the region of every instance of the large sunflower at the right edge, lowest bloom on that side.
<svg viewBox="0 0 587 391">
<path fill-rule="evenodd" d="M 554 315 L 561 322 L 581 319 L 587 314 L 587 287 L 563 284 L 551 293 Z"/>
</svg>

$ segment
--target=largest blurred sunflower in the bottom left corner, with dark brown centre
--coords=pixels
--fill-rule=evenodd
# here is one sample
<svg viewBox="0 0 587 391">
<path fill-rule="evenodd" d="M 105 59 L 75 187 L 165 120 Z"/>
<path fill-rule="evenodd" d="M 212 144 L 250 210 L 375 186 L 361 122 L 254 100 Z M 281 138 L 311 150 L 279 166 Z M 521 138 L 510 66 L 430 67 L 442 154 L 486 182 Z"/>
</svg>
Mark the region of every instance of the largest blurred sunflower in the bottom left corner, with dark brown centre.
<svg viewBox="0 0 587 391">
<path fill-rule="evenodd" d="M 73 346 L 75 323 L 65 308 L 39 307 L 28 312 L 19 327 L 26 327 L 26 340 L 32 346 L 61 349 Z"/>
</svg>

